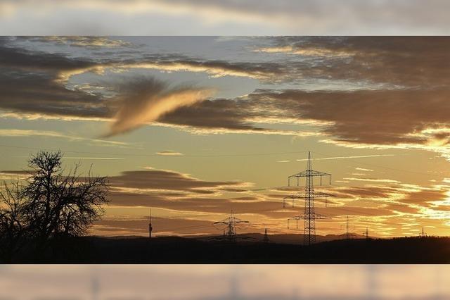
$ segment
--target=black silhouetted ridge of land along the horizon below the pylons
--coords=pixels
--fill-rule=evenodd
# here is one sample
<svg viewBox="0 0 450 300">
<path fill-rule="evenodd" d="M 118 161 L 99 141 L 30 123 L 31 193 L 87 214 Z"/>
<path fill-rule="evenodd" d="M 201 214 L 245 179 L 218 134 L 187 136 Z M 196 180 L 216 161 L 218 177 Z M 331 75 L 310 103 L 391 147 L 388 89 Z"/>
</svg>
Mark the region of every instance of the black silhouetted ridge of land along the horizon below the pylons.
<svg viewBox="0 0 450 300">
<path fill-rule="evenodd" d="M 298 237 L 298 236 L 297 236 Z M 30 256 L 32 257 L 32 256 Z M 449 237 L 338 239 L 311 246 L 187 237 L 79 237 L 14 263 L 449 263 Z"/>
</svg>

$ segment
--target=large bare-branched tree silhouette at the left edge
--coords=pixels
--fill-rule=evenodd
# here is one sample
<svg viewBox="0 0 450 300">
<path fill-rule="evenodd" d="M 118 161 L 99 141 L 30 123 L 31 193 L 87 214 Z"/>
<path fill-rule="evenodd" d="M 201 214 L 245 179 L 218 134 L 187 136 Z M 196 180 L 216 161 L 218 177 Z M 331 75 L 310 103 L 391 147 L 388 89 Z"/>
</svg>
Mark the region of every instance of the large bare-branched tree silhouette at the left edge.
<svg viewBox="0 0 450 300">
<path fill-rule="evenodd" d="M 7 242 L 6 253 L 26 239 L 39 255 L 49 242 L 63 237 L 85 235 L 104 213 L 108 203 L 106 177 L 78 172 L 79 164 L 65 172 L 58 152 L 41 151 L 31 156 L 30 177 L 25 186 L 6 187 L 1 194 L 0 234 Z"/>
</svg>

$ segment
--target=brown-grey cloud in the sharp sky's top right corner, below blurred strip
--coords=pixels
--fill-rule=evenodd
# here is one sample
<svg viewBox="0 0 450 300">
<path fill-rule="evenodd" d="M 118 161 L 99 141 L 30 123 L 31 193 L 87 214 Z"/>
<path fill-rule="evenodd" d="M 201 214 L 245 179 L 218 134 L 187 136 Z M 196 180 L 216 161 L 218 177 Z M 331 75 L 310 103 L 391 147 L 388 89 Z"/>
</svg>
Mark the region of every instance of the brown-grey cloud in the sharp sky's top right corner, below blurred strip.
<svg viewBox="0 0 450 300">
<path fill-rule="evenodd" d="M 317 56 L 303 75 L 398 87 L 447 87 L 447 37 L 276 37 L 281 53 Z M 274 50 L 275 51 L 275 50 Z M 299 70 L 299 72 L 301 72 Z"/>
</svg>

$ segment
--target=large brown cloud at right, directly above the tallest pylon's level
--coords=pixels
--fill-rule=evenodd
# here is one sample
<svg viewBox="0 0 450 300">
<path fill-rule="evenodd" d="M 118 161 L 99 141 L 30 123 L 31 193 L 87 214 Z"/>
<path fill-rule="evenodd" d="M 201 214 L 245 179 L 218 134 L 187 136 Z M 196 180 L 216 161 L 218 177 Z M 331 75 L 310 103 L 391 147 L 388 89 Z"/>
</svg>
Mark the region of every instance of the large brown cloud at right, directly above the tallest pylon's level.
<svg viewBox="0 0 450 300">
<path fill-rule="evenodd" d="M 305 118 L 333 123 L 323 130 L 336 142 L 349 144 L 427 144 L 430 136 L 416 136 L 427 128 L 449 127 L 446 90 L 355 92 L 274 92 L 276 107 Z M 259 100 L 256 100 L 259 101 Z M 431 104 L 432 103 L 432 104 Z M 430 105 L 431 104 L 431 105 Z M 400 112 L 400 113 L 399 113 Z M 379 116 L 383 115 L 383 121 Z"/>
</svg>

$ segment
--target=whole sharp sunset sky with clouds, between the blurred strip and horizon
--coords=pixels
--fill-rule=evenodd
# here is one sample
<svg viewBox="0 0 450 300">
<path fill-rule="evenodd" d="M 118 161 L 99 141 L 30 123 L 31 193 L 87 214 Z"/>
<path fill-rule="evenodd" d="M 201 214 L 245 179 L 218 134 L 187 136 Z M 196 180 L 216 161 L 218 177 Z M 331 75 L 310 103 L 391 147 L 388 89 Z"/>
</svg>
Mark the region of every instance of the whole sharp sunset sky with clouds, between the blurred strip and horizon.
<svg viewBox="0 0 450 300">
<path fill-rule="evenodd" d="M 449 235 L 448 37 L 1 37 L 0 177 L 60 149 L 108 176 L 91 235 L 299 233 L 287 177 L 332 174 L 319 235 Z M 303 182 L 300 182 L 303 183 Z M 319 181 L 315 182 L 319 185 Z M 301 226 L 300 226 L 301 227 Z"/>
</svg>

